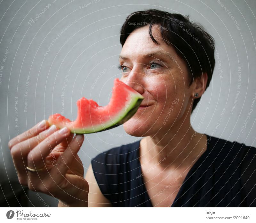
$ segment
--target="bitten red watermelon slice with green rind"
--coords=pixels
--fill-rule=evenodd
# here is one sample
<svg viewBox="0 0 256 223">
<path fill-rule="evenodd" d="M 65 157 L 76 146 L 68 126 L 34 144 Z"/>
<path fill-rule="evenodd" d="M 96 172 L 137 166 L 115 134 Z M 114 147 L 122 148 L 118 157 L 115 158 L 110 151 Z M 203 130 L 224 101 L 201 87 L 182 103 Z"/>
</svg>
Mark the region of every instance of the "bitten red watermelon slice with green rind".
<svg viewBox="0 0 256 223">
<path fill-rule="evenodd" d="M 125 123 L 136 113 L 144 97 L 118 78 L 112 89 L 108 105 L 102 107 L 83 97 L 76 102 L 78 111 L 74 122 L 57 113 L 51 115 L 48 122 L 79 134 L 100 132 Z"/>
</svg>

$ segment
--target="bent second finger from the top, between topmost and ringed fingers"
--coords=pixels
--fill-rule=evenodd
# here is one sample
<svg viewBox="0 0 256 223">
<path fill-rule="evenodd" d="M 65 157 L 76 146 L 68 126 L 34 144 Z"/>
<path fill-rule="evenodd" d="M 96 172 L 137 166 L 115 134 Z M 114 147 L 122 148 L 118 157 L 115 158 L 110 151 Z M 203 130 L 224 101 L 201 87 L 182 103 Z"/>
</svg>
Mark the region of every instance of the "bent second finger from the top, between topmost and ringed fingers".
<svg viewBox="0 0 256 223">
<path fill-rule="evenodd" d="M 25 140 L 12 147 L 12 159 L 19 178 L 26 178 L 26 176 L 28 176 L 26 170 L 28 153 L 33 150 L 36 145 L 42 142 L 46 137 L 53 134 L 56 130 L 58 130 L 58 128 L 55 125 L 52 125 L 50 128 L 44 130 L 37 136 L 29 138 L 28 140 Z"/>
</svg>

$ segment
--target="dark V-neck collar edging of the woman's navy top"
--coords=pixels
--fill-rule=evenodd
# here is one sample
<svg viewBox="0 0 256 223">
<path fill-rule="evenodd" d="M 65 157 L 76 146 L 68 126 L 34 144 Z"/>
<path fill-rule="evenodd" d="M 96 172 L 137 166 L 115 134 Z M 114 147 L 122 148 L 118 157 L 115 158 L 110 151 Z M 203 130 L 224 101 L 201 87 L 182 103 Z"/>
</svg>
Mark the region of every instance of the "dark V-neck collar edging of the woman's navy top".
<svg viewBox="0 0 256 223">
<path fill-rule="evenodd" d="M 188 180 L 188 178 L 190 178 L 190 175 L 192 175 L 192 173 L 194 172 L 196 166 L 198 166 L 198 164 L 201 162 L 202 159 L 205 158 L 205 156 L 207 155 L 207 153 L 210 151 L 210 143 L 211 143 L 211 138 L 209 135 L 205 134 L 204 135 L 207 136 L 207 146 L 206 146 L 206 150 L 204 151 L 204 153 L 198 158 L 198 160 L 196 160 L 196 162 L 194 163 L 194 165 L 190 168 L 190 170 L 188 171 L 188 174 L 186 175 L 184 181 L 182 182 L 182 185 L 179 189 L 178 194 L 176 195 L 175 199 L 173 200 L 173 203 L 170 207 L 174 207 L 176 200 L 180 197 L 180 195 L 182 195 L 183 190 L 184 190 L 184 183 Z M 138 151 L 136 152 L 136 160 L 137 160 L 137 169 L 139 170 L 139 174 L 140 174 L 140 185 L 142 186 L 142 190 L 143 190 L 143 194 L 145 195 L 145 199 L 146 202 L 148 203 L 147 206 L 153 207 L 153 204 L 151 202 L 151 199 L 148 195 L 148 191 L 145 187 L 145 183 L 143 182 L 143 174 L 142 174 L 142 170 L 141 170 L 141 163 L 140 163 L 140 159 L 139 159 L 139 154 L 140 154 L 140 141 L 138 141 Z"/>
</svg>

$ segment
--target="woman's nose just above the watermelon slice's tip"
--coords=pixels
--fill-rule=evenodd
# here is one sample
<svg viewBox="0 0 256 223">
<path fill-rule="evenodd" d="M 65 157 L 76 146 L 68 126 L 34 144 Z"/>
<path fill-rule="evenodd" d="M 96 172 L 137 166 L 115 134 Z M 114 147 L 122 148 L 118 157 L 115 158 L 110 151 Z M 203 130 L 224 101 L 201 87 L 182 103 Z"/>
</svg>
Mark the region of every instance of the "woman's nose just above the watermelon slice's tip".
<svg viewBox="0 0 256 223">
<path fill-rule="evenodd" d="M 128 77 L 126 77 L 123 82 L 128 86 L 132 87 L 135 91 L 140 94 L 144 93 L 144 73 L 139 69 L 138 66 L 133 66 L 132 70 L 129 72 Z"/>
</svg>

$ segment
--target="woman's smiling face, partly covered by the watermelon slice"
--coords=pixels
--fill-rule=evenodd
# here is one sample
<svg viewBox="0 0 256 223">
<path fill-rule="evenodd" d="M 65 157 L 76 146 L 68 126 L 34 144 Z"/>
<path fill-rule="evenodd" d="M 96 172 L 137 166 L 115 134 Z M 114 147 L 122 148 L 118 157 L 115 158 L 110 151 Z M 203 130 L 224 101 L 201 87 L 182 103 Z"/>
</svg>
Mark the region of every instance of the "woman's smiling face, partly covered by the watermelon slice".
<svg viewBox="0 0 256 223">
<path fill-rule="evenodd" d="M 166 132 L 173 123 L 190 122 L 193 84 L 185 62 L 174 48 L 161 41 L 158 28 L 152 27 L 156 45 L 148 35 L 148 27 L 134 30 L 126 39 L 119 62 L 121 80 L 144 97 L 136 114 L 124 123 L 124 130 L 137 137 Z"/>
</svg>

